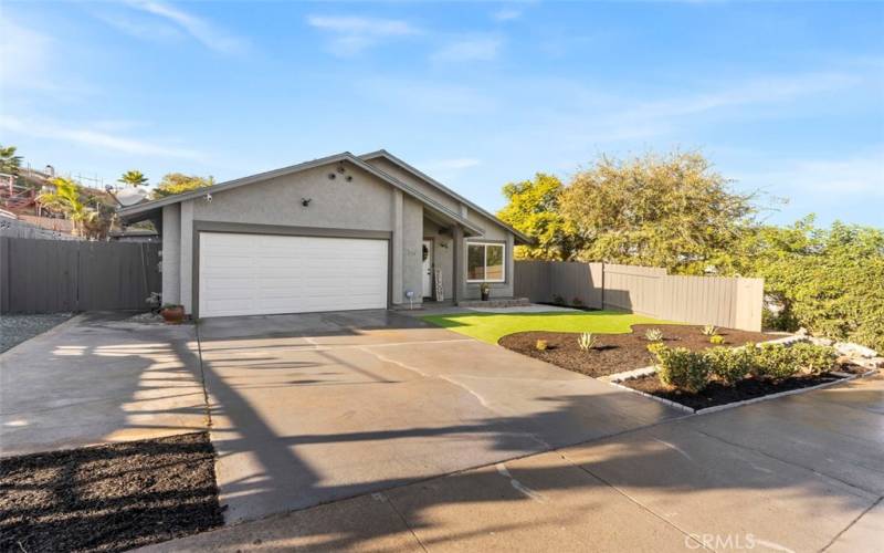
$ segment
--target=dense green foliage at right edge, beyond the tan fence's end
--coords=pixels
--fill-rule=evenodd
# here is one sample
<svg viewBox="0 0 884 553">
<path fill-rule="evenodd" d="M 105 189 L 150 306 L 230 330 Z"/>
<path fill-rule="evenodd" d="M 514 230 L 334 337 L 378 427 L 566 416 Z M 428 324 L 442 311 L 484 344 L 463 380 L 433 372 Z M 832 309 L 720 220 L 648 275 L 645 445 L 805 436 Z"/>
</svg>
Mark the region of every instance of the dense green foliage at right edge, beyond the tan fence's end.
<svg viewBox="0 0 884 553">
<path fill-rule="evenodd" d="M 744 237 L 737 269 L 765 279 L 780 311 L 769 326 L 806 327 L 813 334 L 884 351 L 884 230 L 812 216 L 790 227 L 760 227 Z"/>
</svg>

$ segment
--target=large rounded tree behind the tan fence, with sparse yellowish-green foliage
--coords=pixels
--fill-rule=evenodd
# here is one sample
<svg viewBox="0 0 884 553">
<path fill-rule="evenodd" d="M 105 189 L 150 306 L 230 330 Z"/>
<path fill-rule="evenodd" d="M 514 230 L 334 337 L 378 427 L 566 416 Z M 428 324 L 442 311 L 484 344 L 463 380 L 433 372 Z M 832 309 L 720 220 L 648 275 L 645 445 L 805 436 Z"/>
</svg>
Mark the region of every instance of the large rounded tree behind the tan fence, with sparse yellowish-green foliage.
<svg viewBox="0 0 884 553">
<path fill-rule="evenodd" d="M 737 194 L 698 153 L 601 156 L 560 198 L 585 261 L 663 267 L 702 274 L 732 262 L 728 251 L 753 220 L 753 195 Z"/>
</svg>

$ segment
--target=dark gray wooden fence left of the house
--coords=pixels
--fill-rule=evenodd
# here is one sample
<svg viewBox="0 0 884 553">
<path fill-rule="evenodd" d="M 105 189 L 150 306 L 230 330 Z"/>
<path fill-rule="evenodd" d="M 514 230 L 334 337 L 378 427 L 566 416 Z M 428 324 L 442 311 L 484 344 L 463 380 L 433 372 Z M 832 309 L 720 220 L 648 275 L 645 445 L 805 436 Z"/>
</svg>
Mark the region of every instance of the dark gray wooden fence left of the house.
<svg viewBox="0 0 884 553">
<path fill-rule="evenodd" d="M 0 313 L 145 309 L 159 243 L 0 238 Z"/>
</svg>

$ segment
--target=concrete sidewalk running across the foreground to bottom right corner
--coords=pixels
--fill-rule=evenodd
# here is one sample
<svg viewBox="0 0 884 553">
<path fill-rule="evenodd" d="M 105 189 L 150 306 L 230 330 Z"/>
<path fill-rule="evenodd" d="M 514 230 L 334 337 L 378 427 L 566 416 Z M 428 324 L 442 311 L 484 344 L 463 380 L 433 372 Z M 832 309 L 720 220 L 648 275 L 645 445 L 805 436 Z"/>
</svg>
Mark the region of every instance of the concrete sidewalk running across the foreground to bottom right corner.
<svg viewBox="0 0 884 553">
<path fill-rule="evenodd" d="M 884 378 L 682 418 L 149 551 L 832 551 L 884 543 Z"/>
</svg>

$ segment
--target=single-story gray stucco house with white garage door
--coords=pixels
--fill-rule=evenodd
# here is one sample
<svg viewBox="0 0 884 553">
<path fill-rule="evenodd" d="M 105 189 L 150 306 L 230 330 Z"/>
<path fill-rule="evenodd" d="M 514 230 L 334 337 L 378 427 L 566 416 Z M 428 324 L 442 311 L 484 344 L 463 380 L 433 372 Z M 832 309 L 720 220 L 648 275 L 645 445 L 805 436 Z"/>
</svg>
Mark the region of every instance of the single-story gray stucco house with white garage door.
<svg viewBox="0 0 884 553">
<path fill-rule="evenodd" d="M 529 239 L 386 150 L 337 154 L 119 210 L 162 237 L 162 301 L 193 316 L 513 296 Z"/>
</svg>

